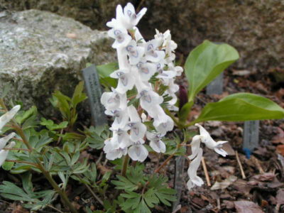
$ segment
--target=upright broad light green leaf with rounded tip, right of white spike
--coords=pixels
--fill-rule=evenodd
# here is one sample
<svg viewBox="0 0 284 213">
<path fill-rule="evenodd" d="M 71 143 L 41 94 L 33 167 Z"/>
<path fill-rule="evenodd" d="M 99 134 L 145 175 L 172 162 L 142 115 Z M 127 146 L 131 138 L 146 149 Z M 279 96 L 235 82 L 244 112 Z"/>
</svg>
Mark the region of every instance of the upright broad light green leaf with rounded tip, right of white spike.
<svg viewBox="0 0 284 213">
<path fill-rule="evenodd" d="M 239 53 L 225 43 L 216 44 L 209 40 L 197 46 L 185 62 L 185 75 L 190 84 L 190 100 L 226 67 L 239 59 Z"/>
</svg>

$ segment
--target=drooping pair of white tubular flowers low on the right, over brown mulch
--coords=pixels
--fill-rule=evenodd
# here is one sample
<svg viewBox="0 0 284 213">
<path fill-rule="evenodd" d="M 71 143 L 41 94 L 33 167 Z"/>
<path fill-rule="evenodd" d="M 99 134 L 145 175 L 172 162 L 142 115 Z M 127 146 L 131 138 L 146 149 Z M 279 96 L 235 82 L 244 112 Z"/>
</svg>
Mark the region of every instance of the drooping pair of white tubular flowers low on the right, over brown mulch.
<svg viewBox="0 0 284 213">
<path fill-rule="evenodd" d="M 209 135 L 209 133 L 204 129 L 200 124 L 195 124 L 200 129 L 200 135 L 194 136 L 192 138 L 191 149 L 192 154 L 188 156 L 192 162 L 190 163 L 190 168 L 188 168 L 187 173 L 190 177 L 190 180 L 187 182 L 187 187 L 190 190 L 195 185 L 201 186 L 204 182 L 203 180 L 197 176 L 197 169 L 200 166 L 200 162 L 202 159 L 202 148 L 200 148 L 200 142 L 204 143 L 207 148 L 213 149 L 215 152 L 222 156 L 228 155 L 226 151 L 222 149 L 224 143 L 228 141 L 218 141 L 215 142 L 213 138 Z"/>
</svg>

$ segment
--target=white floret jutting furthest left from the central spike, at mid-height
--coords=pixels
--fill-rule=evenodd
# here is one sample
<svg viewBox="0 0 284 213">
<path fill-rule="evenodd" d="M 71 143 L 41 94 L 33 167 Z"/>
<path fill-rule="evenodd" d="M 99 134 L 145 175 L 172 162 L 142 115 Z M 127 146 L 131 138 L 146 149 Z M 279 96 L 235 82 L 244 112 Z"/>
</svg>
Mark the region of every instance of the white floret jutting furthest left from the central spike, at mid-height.
<svg viewBox="0 0 284 213">
<path fill-rule="evenodd" d="M 111 88 L 112 92 L 104 92 L 101 97 L 101 102 L 108 110 L 126 107 L 126 94 L 120 94 L 115 89 Z"/>
</svg>

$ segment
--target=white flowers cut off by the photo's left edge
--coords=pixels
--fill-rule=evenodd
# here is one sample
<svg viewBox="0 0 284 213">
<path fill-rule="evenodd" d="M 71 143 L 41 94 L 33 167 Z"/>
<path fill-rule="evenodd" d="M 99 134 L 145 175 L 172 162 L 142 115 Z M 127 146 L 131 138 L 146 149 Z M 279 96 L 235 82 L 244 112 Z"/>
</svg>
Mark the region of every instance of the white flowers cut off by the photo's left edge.
<svg viewBox="0 0 284 213">
<path fill-rule="evenodd" d="M 0 117 L 0 133 L 1 133 L 1 130 L 3 129 L 3 127 L 11 119 L 13 119 L 13 116 L 16 115 L 16 113 L 18 112 L 18 110 L 20 108 L 21 108 L 20 105 L 17 105 L 15 107 L 13 107 L 13 109 L 11 109 L 10 111 L 6 112 L 6 114 L 4 114 Z M 9 153 L 9 150 L 5 150 L 3 148 L 13 148 L 13 146 L 15 146 L 15 144 L 16 144 L 14 141 L 11 141 L 11 143 L 9 143 L 8 146 L 6 146 L 8 141 L 10 141 L 11 138 L 13 138 L 14 136 L 16 136 L 16 133 L 10 133 L 8 136 L 4 136 L 3 138 L 0 138 L 0 166 L 4 163 L 4 161 L 6 160 L 6 158 L 8 156 L 8 153 Z"/>
</svg>

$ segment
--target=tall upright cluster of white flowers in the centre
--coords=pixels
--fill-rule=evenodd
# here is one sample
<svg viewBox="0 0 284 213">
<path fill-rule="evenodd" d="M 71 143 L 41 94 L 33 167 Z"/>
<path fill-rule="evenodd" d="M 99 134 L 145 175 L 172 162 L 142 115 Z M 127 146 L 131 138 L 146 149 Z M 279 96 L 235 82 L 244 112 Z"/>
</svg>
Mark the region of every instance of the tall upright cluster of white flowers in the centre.
<svg viewBox="0 0 284 213">
<path fill-rule="evenodd" d="M 104 152 L 109 160 L 129 154 L 132 160 L 142 162 L 148 156 L 144 146 L 146 138 L 155 152 L 164 153 L 165 143 L 160 139 L 167 131 L 173 130 L 174 124 L 160 107 L 163 96 L 171 97 L 167 102 L 168 109 L 178 110 L 175 92 L 179 87 L 175 84 L 175 77 L 181 75 L 182 67 L 174 65 L 177 45 L 171 40 L 170 31 L 156 31 L 153 40 L 143 38 L 136 25 L 146 11 L 144 8 L 136 14 L 130 3 L 124 9 L 118 5 L 116 18 L 107 23 L 111 28 L 108 35 L 114 38 L 112 47 L 116 49 L 119 62 L 119 70 L 110 75 L 118 79 L 117 87 L 104 92 L 101 98 L 107 109 L 105 113 L 114 117 L 112 137 L 104 142 Z M 155 85 L 150 82 L 153 78 L 158 79 Z M 166 86 L 162 96 L 155 87 L 158 84 Z M 136 92 L 138 108 L 129 103 L 127 94 L 130 90 Z M 143 122 L 152 119 L 155 131 L 147 131 Z"/>
</svg>

